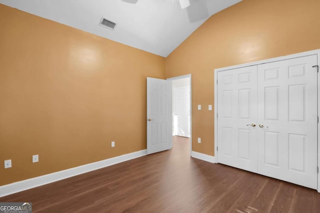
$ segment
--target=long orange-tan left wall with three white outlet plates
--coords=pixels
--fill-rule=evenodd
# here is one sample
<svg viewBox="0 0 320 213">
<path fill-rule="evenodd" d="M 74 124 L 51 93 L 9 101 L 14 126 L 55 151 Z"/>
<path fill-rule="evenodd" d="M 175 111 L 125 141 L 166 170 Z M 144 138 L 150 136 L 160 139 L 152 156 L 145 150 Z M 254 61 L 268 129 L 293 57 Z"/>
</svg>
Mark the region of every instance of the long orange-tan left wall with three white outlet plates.
<svg viewBox="0 0 320 213">
<path fill-rule="evenodd" d="M 0 186 L 145 149 L 146 76 L 164 63 L 0 4 Z"/>
</svg>

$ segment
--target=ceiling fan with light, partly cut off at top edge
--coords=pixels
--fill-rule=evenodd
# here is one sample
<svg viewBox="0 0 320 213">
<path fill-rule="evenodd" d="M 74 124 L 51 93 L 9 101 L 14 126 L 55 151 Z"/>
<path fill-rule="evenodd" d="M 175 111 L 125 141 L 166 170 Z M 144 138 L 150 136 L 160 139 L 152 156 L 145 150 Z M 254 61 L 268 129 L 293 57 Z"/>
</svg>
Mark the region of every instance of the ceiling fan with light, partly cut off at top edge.
<svg viewBox="0 0 320 213">
<path fill-rule="evenodd" d="M 138 0 L 122 0 L 136 3 Z M 209 16 L 206 0 L 179 0 L 181 9 L 186 8 L 190 23 L 203 20 Z"/>
</svg>

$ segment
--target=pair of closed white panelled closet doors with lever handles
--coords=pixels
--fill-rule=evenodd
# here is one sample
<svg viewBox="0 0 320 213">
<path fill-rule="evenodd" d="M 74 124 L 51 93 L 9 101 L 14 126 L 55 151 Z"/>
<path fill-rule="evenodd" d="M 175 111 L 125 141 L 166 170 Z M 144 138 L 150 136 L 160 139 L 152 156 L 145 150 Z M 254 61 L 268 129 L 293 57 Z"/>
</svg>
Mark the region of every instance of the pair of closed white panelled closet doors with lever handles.
<svg viewBox="0 0 320 213">
<path fill-rule="evenodd" d="M 218 163 L 317 188 L 317 56 L 217 73 Z"/>
</svg>

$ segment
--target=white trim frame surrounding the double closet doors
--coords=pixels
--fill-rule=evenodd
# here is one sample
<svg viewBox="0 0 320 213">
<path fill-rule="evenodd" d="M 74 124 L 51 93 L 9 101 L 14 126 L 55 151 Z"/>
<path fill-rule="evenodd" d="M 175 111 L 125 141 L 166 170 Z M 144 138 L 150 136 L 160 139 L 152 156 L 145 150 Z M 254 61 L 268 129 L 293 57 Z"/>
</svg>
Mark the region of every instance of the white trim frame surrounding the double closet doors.
<svg viewBox="0 0 320 213">
<path fill-rule="evenodd" d="M 244 63 L 244 64 L 239 64 L 239 65 L 234 65 L 234 66 L 228 66 L 228 67 L 223 67 L 223 68 L 217 68 L 214 69 L 214 163 L 218 163 L 218 152 L 217 152 L 217 73 L 220 71 L 224 70 L 230 70 L 230 69 L 237 69 L 241 67 L 246 67 L 246 66 L 254 66 L 262 63 L 269 63 L 269 62 L 274 62 L 274 61 L 281 61 L 281 60 L 286 60 L 286 59 L 292 59 L 292 58 L 297 58 L 297 57 L 303 57 L 303 56 L 308 56 L 308 55 L 317 55 L 317 65 L 320 65 L 320 49 L 316 50 L 311 50 L 311 51 L 306 51 L 306 52 L 301 52 L 301 53 L 296 53 L 296 54 L 291 54 L 291 55 L 285 55 L 285 56 L 280 56 L 280 57 L 275 57 L 275 58 L 270 58 L 270 59 L 265 59 L 265 60 L 260 60 L 260 61 L 254 61 L 250 63 Z M 318 67 L 319 69 L 319 67 Z M 320 82 L 320 74 L 317 76 L 317 115 L 320 115 L 320 87 L 319 87 L 319 82 Z M 320 166 L 320 138 L 319 138 L 319 133 L 320 133 L 320 125 L 318 125 L 318 136 L 317 136 L 317 166 Z M 317 187 L 317 192 L 320 193 L 320 175 L 318 173 L 317 175 L 317 180 L 318 180 L 318 187 Z"/>
</svg>

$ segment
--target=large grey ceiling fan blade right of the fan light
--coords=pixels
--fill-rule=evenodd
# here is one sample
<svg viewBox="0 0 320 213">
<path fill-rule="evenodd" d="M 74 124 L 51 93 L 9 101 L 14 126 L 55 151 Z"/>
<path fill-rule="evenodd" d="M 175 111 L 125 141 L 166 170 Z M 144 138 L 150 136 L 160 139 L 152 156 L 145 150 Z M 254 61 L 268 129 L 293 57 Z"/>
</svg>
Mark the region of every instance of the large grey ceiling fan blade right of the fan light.
<svg viewBox="0 0 320 213">
<path fill-rule="evenodd" d="M 191 0 L 190 6 L 186 7 L 190 23 L 197 22 L 209 17 L 206 0 Z"/>
</svg>

